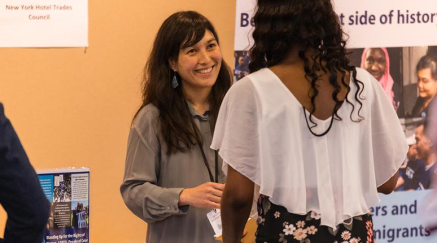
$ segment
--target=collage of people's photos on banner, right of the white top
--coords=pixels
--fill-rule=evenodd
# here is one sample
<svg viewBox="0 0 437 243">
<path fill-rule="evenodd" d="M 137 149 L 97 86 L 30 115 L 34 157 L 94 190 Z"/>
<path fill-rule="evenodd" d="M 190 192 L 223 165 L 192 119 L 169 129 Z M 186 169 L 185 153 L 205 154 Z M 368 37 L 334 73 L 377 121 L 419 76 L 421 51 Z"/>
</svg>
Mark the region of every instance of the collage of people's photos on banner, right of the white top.
<svg viewBox="0 0 437 243">
<path fill-rule="evenodd" d="M 410 148 L 396 191 L 429 189 L 437 163 L 428 159 L 429 139 L 423 132 L 423 122 L 428 107 L 437 102 L 437 70 L 433 69 L 437 46 L 372 47 L 348 52 L 351 65 L 366 69 L 384 88 L 404 127 Z"/>
</svg>

